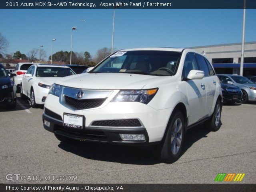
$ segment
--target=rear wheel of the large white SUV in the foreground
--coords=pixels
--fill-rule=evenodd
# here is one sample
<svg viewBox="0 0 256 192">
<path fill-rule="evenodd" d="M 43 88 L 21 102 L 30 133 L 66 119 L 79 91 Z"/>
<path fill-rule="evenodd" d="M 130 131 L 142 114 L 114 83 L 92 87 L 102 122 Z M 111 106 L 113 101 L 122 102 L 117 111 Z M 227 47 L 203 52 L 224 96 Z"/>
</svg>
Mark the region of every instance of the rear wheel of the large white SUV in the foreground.
<svg viewBox="0 0 256 192">
<path fill-rule="evenodd" d="M 209 131 L 218 131 L 220 129 L 220 118 L 221 118 L 221 104 L 220 100 L 217 100 L 214 108 L 214 112 L 209 120 L 204 122 L 204 126 Z"/>
</svg>

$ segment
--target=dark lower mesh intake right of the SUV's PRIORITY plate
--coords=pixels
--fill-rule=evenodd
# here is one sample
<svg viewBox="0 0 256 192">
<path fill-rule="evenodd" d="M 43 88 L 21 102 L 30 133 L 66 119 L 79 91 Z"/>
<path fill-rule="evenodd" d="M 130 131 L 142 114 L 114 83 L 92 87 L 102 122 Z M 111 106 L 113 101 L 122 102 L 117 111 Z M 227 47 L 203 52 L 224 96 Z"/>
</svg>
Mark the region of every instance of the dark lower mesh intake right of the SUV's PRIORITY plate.
<svg viewBox="0 0 256 192">
<path fill-rule="evenodd" d="M 120 119 L 120 120 L 102 120 L 94 121 L 92 126 L 102 127 L 140 127 L 140 121 L 138 119 Z"/>
</svg>

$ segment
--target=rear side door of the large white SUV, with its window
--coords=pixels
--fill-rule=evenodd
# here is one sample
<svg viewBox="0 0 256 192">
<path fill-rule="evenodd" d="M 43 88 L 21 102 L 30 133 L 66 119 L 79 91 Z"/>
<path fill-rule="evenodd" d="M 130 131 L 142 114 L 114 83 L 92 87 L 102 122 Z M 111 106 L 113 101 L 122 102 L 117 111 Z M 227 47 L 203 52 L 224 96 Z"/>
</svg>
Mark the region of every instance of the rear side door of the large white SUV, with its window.
<svg viewBox="0 0 256 192">
<path fill-rule="evenodd" d="M 216 95 L 217 89 L 216 85 L 218 82 L 218 77 L 215 75 L 214 70 L 203 56 L 196 54 L 196 60 L 198 62 L 199 69 L 204 72 L 204 83 L 206 89 L 206 108 L 205 108 L 205 116 L 211 113 L 212 106 L 214 103 L 214 96 Z"/>
</svg>

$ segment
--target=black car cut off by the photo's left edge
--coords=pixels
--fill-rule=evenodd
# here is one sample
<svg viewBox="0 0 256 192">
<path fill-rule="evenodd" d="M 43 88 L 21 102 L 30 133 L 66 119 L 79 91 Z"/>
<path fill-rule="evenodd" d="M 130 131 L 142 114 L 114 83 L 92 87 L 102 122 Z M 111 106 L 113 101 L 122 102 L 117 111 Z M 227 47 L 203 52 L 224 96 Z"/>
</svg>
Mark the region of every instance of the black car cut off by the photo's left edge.
<svg viewBox="0 0 256 192">
<path fill-rule="evenodd" d="M 0 107 L 10 105 L 11 108 L 16 107 L 16 88 L 11 80 L 16 74 L 8 75 L 4 66 L 0 63 Z"/>
</svg>

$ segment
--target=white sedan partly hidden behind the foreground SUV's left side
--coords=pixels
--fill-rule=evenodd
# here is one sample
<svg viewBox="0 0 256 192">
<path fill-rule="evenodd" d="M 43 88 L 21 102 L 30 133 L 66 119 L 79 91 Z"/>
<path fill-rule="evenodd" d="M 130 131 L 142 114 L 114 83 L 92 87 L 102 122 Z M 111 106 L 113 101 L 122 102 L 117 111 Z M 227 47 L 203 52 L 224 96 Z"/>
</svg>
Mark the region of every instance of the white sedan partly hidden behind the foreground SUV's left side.
<svg viewBox="0 0 256 192">
<path fill-rule="evenodd" d="M 74 75 L 67 66 L 33 64 L 24 74 L 20 84 L 20 96 L 30 98 L 32 108 L 44 104 L 50 86 L 58 79 Z"/>
</svg>

